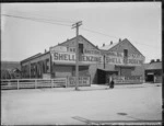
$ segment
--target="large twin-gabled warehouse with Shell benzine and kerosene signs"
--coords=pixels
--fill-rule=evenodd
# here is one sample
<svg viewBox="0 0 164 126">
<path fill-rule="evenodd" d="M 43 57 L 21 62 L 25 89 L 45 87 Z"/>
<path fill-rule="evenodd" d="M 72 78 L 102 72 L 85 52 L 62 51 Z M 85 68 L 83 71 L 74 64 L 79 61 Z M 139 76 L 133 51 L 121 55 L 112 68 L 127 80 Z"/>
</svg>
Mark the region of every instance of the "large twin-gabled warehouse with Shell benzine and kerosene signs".
<svg viewBox="0 0 164 126">
<path fill-rule="evenodd" d="M 144 56 L 126 38 L 98 48 L 82 35 L 79 41 L 79 76 L 90 77 L 91 83 L 106 83 L 108 76 L 117 80 L 141 80 L 144 78 Z M 75 76 L 77 37 L 50 47 L 21 61 L 24 78 L 67 78 Z M 134 82 L 134 81 L 133 81 Z"/>
</svg>

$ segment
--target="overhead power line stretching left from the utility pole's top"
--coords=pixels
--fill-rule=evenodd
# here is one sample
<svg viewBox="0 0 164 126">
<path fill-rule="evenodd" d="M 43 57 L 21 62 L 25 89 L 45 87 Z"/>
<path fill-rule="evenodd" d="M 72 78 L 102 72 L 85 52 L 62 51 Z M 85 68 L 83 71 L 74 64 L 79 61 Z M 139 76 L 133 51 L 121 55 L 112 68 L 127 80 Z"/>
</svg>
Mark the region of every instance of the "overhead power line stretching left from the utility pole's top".
<svg viewBox="0 0 164 126">
<path fill-rule="evenodd" d="M 23 20 L 31 20 L 31 21 L 36 21 L 36 22 L 44 22 L 44 23 L 49 23 L 49 24 L 57 24 L 57 25 L 71 26 L 71 25 L 68 25 L 68 24 L 61 24 L 61 23 L 50 22 L 50 20 L 44 20 L 44 19 L 34 19 L 34 18 L 25 18 L 25 16 L 9 15 L 9 14 L 1 14 L 1 15 L 10 16 L 10 18 L 23 19 Z"/>
</svg>

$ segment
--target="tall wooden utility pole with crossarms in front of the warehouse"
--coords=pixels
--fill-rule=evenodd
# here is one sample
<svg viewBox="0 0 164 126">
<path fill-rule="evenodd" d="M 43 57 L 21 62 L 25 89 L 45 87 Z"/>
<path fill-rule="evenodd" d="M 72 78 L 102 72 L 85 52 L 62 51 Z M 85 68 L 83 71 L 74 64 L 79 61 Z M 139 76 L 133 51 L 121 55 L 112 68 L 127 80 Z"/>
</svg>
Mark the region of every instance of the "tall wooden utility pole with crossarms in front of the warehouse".
<svg viewBox="0 0 164 126">
<path fill-rule="evenodd" d="M 77 28 L 77 46 L 75 46 L 75 90 L 79 90 L 79 26 L 82 25 L 82 21 L 72 25 L 72 28 Z"/>
</svg>

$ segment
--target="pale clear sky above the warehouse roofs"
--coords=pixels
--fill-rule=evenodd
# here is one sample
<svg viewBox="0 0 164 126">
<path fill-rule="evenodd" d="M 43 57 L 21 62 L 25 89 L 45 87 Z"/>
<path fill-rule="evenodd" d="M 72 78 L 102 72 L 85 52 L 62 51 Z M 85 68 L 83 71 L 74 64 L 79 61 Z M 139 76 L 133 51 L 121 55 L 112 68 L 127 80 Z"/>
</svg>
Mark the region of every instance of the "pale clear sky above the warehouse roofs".
<svg viewBox="0 0 164 126">
<path fill-rule="evenodd" d="M 78 21 L 79 34 L 95 46 L 127 38 L 145 62 L 161 59 L 161 2 L 1 3 L 1 60 L 21 61 L 75 37 L 72 24 Z"/>
</svg>

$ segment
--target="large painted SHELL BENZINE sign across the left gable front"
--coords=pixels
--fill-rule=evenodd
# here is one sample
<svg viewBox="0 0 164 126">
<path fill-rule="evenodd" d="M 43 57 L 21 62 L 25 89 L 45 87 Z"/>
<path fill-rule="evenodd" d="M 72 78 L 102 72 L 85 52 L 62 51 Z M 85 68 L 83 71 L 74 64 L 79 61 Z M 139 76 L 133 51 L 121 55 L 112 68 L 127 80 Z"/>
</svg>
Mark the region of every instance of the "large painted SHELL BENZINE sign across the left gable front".
<svg viewBox="0 0 164 126">
<path fill-rule="evenodd" d="M 66 47 L 67 48 L 67 47 Z M 62 49 L 63 50 L 63 49 Z M 51 60 L 54 62 L 70 62 L 75 64 L 75 48 L 68 47 L 66 51 L 51 49 Z M 79 61 L 81 64 L 103 64 L 103 56 L 96 49 L 84 49 L 83 54 L 80 54 Z"/>
</svg>

